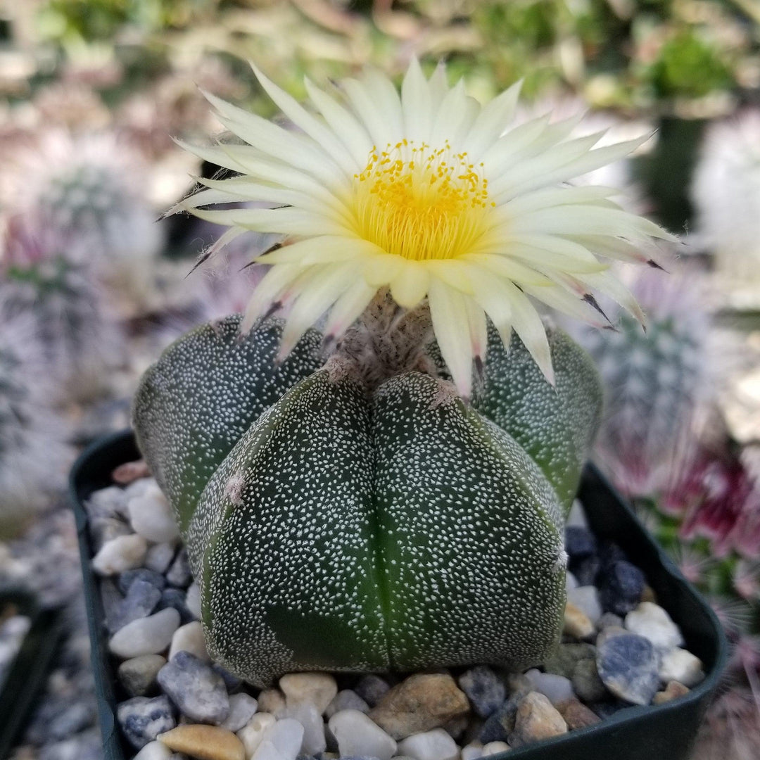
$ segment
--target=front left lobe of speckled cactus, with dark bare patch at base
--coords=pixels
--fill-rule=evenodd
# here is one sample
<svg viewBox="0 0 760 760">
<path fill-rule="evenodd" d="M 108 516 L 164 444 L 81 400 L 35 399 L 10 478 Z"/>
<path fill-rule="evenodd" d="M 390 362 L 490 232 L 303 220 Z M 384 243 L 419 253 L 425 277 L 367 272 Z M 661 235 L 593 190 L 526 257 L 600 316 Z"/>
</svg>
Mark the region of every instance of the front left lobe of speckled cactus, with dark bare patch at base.
<svg viewBox="0 0 760 760">
<path fill-rule="evenodd" d="M 258 686 L 388 669 L 370 406 L 350 378 L 299 382 L 214 474 L 188 534 L 211 654 Z"/>
</svg>

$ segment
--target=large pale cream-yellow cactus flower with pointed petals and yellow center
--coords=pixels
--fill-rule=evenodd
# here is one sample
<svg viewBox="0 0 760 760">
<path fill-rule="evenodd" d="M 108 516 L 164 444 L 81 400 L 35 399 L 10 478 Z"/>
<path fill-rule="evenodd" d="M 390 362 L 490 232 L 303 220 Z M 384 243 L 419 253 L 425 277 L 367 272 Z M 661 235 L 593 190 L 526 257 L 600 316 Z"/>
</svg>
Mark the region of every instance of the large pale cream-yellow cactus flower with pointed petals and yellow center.
<svg viewBox="0 0 760 760">
<path fill-rule="evenodd" d="M 257 258 L 271 264 L 242 329 L 287 308 L 280 356 L 323 315 L 332 343 L 378 290 L 413 309 L 427 299 L 442 357 L 470 396 L 489 318 L 505 345 L 517 332 L 549 382 L 543 322 L 529 296 L 592 325 L 606 325 L 594 292 L 643 321 L 635 299 L 606 271 L 608 260 L 649 263 L 654 240 L 673 239 L 623 211 L 615 188 L 572 178 L 629 154 L 646 138 L 594 148 L 603 133 L 572 138 L 578 119 L 544 116 L 515 125 L 519 84 L 481 106 L 445 68 L 426 79 L 413 61 L 401 95 L 368 71 L 332 94 L 306 81 L 307 110 L 261 72 L 259 81 L 299 131 L 207 96 L 220 122 L 246 144 L 188 147 L 237 173 L 199 179 L 185 209 L 245 230 L 279 233 L 290 245 Z M 207 210 L 264 201 L 270 208 Z"/>
</svg>

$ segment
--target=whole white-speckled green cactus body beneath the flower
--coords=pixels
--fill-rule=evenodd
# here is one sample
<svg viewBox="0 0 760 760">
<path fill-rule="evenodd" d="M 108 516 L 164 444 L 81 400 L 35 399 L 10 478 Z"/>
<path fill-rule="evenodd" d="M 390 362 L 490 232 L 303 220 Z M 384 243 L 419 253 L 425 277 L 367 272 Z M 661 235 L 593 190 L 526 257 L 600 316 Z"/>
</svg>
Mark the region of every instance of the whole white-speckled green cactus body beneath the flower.
<svg viewBox="0 0 760 760">
<path fill-rule="evenodd" d="M 214 657 L 258 686 L 293 670 L 542 660 L 559 641 L 563 516 L 597 422 L 590 359 L 551 331 L 552 388 L 517 338 L 509 354 L 492 344 L 469 406 L 420 372 L 367 388 L 348 359 L 318 369 L 315 332 L 274 368 L 280 324 L 237 345 L 238 325 L 179 340 L 135 400 Z M 514 376 L 500 390 L 502 373 Z M 546 426 L 522 440 L 496 424 L 531 406 Z"/>
</svg>

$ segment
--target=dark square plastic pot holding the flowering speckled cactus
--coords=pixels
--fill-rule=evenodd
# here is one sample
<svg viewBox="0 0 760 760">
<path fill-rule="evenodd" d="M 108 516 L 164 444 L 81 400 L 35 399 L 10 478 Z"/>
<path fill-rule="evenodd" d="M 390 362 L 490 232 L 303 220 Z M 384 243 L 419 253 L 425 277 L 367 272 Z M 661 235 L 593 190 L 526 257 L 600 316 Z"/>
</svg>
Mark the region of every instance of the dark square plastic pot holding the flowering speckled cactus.
<svg viewBox="0 0 760 760">
<path fill-rule="evenodd" d="M 135 439 L 126 431 L 93 444 L 71 471 L 71 504 L 77 518 L 106 760 L 125 760 L 134 751 L 119 736 L 116 725 L 116 695 L 126 695 L 120 694 L 116 668 L 108 653 L 103 605 L 90 565 L 93 550 L 84 501 L 93 491 L 110 484 L 115 467 L 138 456 Z M 707 677 L 688 695 L 665 705 L 621 710 L 597 726 L 512 750 L 503 755 L 504 760 L 686 760 L 726 663 L 727 642 L 720 623 L 595 467 L 587 467 L 579 496 L 597 536 L 619 544 L 644 571 L 657 600 L 680 626 L 686 647 L 705 664 Z M 494 760 L 500 757 L 493 755 Z"/>
</svg>

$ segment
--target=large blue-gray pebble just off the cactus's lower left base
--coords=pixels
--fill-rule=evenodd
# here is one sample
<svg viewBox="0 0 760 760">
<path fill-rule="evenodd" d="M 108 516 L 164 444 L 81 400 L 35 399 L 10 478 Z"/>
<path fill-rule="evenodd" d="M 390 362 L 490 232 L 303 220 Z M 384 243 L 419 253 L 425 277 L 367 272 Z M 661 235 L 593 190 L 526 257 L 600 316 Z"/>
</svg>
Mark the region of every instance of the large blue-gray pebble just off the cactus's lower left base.
<svg viewBox="0 0 760 760">
<path fill-rule="evenodd" d="M 230 714 L 224 679 L 194 654 L 177 652 L 159 671 L 158 682 L 191 720 L 218 726 Z"/>
</svg>

